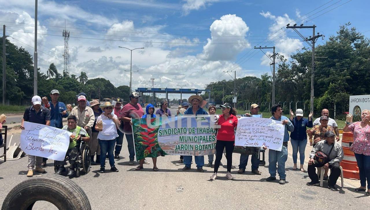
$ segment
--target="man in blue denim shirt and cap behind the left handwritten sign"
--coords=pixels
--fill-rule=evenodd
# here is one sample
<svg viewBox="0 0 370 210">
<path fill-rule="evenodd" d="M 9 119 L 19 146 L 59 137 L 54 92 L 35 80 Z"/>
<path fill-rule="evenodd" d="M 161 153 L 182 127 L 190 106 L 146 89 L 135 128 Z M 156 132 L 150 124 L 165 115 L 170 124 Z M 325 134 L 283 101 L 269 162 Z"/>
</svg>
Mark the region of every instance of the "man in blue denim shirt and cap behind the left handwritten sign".
<svg viewBox="0 0 370 210">
<path fill-rule="evenodd" d="M 65 107 L 65 104 L 63 102 L 58 101 L 59 98 L 59 91 L 58 90 L 52 90 L 50 92 L 50 98 L 51 101 L 49 101 L 50 105 L 50 126 L 56 127 L 58 129 L 63 128 L 63 117 L 68 117 L 67 114 L 67 107 Z M 46 166 L 47 158 L 43 158 L 43 162 L 41 163 L 41 166 Z"/>
</svg>

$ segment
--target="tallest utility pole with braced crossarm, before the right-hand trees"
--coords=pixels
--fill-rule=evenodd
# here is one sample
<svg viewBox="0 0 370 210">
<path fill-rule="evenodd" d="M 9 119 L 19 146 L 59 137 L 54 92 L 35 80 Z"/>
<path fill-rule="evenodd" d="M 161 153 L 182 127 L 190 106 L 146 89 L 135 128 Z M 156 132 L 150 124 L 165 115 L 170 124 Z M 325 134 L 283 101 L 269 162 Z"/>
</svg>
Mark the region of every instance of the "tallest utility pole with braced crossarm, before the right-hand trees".
<svg viewBox="0 0 370 210">
<path fill-rule="evenodd" d="M 314 94 L 313 94 L 313 82 L 314 82 L 314 69 L 315 69 L 315 43 L 316 43 L 316 40 L 317 38 L 323 36 L 322 34 L 320 33 L 317 33 L 317 35 L 315 35 L 315 28 L 316 26 L 315 25 L 312 25 L 312 26 L 303 26 L 303 24 L 300 24 L 300 26 L 297 26 L 297 24 L 294 24 L 293 26 L 289 26 L 289 24 L 286 25 L 286 28 L 287 29 L 293 29 L 296 31 L 296 33 L 302 37 L 302 39 L 304 41 L 306 41 L 311 47 L 312 47 L 312 69 L 311 69 L 311 110 L 310 112 L 313 112 L 313 99 L 314 99 Z M 304 37 L 301 33 L 299 33 L 299 31 L 297 31 L 297 29 L 312 29 L 312 36 L 310 36 L 309 38 L 307 37 Z M 309 42 L 311 41 L 311 43 Z"/>
</svg>

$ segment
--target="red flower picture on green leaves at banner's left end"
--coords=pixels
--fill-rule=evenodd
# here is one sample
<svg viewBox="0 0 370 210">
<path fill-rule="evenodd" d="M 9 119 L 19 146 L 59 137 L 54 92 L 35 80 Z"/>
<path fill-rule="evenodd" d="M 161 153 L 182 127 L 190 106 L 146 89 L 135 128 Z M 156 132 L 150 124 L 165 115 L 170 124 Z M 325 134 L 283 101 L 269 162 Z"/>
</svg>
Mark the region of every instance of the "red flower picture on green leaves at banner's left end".
<svg viewBox="0 0 370 210">
<path fill-rule="evenodd" d="M 148 120 L 148 121 L 147 121 Z M 147 123 L 150 123 L 148 125 Z M 166 155 L 158 144 L 157 133 L 161 126 L 161 121 L 155 118 L 132 119 L 132 135 L 134 136 L 136 160 L 145 157 L 158 157 Z"/>
</svg>

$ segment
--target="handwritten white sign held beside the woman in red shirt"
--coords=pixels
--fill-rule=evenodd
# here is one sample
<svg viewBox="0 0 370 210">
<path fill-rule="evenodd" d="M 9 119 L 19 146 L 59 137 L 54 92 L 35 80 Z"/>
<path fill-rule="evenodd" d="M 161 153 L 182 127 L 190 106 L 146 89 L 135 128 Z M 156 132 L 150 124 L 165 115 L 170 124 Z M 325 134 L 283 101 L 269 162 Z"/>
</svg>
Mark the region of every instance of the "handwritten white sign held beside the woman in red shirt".
<svg viewBox="0 0 370 210">
<path fill-rule="evenodd" d="M 262 147 L 281 151 L 284 138 L 281 121 L 267 118 L 241 117 L 235 134 L 235 146 Z"/>
</svg>

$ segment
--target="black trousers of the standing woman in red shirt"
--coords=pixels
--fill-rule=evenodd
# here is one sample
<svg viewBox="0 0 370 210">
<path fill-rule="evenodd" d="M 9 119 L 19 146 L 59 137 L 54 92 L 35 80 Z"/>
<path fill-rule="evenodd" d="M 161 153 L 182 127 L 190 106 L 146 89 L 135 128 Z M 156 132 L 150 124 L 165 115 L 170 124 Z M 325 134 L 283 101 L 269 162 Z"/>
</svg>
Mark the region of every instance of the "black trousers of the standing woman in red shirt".
<svg viewBox="0 0 370 210">
<path fill-rule="evenodd" d="M 231 172 L 232 166 L 232 151 L 234 150 L 234 143 L 235 141 L 222 141 L 217 140 L 216 142 L 216 160 L 215 160 L 215 168 L 213 173 L 217 173 L 218 168 L 220 167 L 220 162 L 222 159 L 223 149 L 226 150 L 226 160 L 228 164 L 228 172 Z"/>
</svg>

